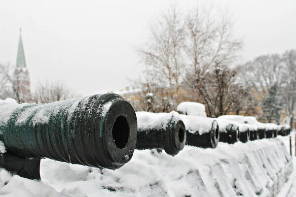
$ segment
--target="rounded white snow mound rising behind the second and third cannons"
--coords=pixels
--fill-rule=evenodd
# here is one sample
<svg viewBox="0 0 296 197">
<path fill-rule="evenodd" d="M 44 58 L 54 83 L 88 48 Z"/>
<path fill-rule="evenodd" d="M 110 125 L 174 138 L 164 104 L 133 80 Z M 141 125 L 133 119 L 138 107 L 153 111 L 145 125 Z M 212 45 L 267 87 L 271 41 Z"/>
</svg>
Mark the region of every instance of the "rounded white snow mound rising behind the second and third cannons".
<svg viewBox="0 0 296 197">
<path fill-rule="evenodd" d="M 177 111 L 185 115 L 207 117 L 205 105 L 199 102 L 181 102 Z"/>
</svg>

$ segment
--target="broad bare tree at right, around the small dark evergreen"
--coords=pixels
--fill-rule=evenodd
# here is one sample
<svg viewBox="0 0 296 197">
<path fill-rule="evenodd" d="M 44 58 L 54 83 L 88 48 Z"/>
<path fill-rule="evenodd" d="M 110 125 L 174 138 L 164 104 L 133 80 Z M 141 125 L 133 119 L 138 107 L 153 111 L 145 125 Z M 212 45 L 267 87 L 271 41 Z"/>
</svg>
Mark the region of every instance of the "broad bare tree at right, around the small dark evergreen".
<svg viewBox="0 0 296 197">
<path fill-rule="evenodd" d="M 262 55 L 246 63 L 244 67 L 242 76 L 257 93 L 265 118 L 268 122 L 275 120 L 280 124 L 282 91 L 287 68 L 281 55 Z"/>
</svg>

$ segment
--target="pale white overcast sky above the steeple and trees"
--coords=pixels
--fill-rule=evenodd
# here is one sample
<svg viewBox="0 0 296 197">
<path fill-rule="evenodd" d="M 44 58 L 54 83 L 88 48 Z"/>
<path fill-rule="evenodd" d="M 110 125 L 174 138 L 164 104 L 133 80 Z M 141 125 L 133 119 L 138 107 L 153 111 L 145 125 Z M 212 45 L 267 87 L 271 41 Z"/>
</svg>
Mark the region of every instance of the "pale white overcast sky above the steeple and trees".
<svg viewBox="0 0 296 197">
<path fill-rule="evenodd" d="M 184 8 L 207 0 L 180 0 Z M 244 38 L 241 60 L 296 49 L 296 0 L 217 0 Z M 83 96 L 118 92 L 141 74 L 135 53 L 170 0 L 0 0 L 0 63 L 15 65 L 19 28 L 30 71 Z"/>
</svg>

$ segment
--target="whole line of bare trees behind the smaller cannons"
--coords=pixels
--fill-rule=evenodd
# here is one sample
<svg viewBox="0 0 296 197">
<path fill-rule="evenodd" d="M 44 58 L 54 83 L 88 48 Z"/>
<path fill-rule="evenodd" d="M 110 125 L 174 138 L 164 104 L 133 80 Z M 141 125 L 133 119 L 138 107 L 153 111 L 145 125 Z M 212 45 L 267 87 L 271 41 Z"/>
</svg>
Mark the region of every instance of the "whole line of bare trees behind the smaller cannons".
<svg viewBox="0 0 296 197">
<path fill-rule="evenodd" d="M 296 50 L 238 64 L 243 40 L 227 13 L 170 6 L 137 48 L 145 66 L 127 99 L 136 110 L 167 112 L 181 101 L 204 103 L 209 117 L 252 115 L 268 122 L 285 109 L 294 121 Z"/>
</svg>

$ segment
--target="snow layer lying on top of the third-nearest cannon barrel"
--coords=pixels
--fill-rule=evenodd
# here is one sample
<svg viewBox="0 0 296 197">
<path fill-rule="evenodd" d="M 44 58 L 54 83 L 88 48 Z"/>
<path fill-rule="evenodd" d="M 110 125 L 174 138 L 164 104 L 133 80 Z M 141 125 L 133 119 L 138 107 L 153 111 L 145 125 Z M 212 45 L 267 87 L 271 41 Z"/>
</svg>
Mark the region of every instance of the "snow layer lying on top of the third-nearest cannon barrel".
<svg viewBox="0 0 296 197">
<path fill-rule="evenodd" d="M 187 116 L 180 114 L 181 120 L 184 122 L 185 129 L 191 133 L 198 131 L 199 134 L 210 132 L 215 121 L 214 118 L 205 118 L 199 116 Z M 213 126 L 212 126 L 213 125 Z"/>
</svg>

